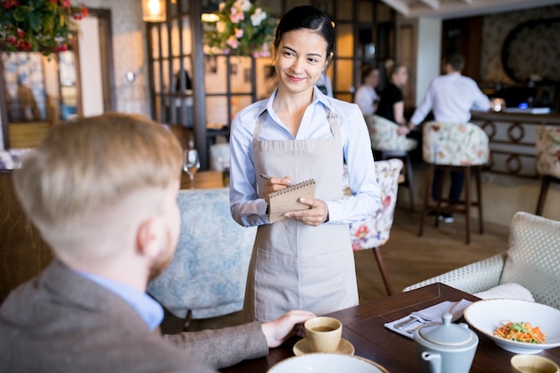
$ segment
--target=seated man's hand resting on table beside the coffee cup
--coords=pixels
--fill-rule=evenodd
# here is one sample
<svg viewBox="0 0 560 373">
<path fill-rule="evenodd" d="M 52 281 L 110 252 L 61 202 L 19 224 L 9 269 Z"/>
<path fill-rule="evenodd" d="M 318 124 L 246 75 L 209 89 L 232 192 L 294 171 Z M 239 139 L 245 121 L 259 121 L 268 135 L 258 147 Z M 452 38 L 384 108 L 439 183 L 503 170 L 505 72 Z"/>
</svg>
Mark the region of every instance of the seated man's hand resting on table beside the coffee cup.
<svg viewBox="0 0 560 373">
<path fill-rule="evenodd" d="M 315 318 L 315 314 L 294 309 L 274 321 L 264 323 L 262 332 L 267 338 L 268 347 L 278 347 L 292 335 L 305 336 L 303 323 L 310 318 Z"/>
</svg>

